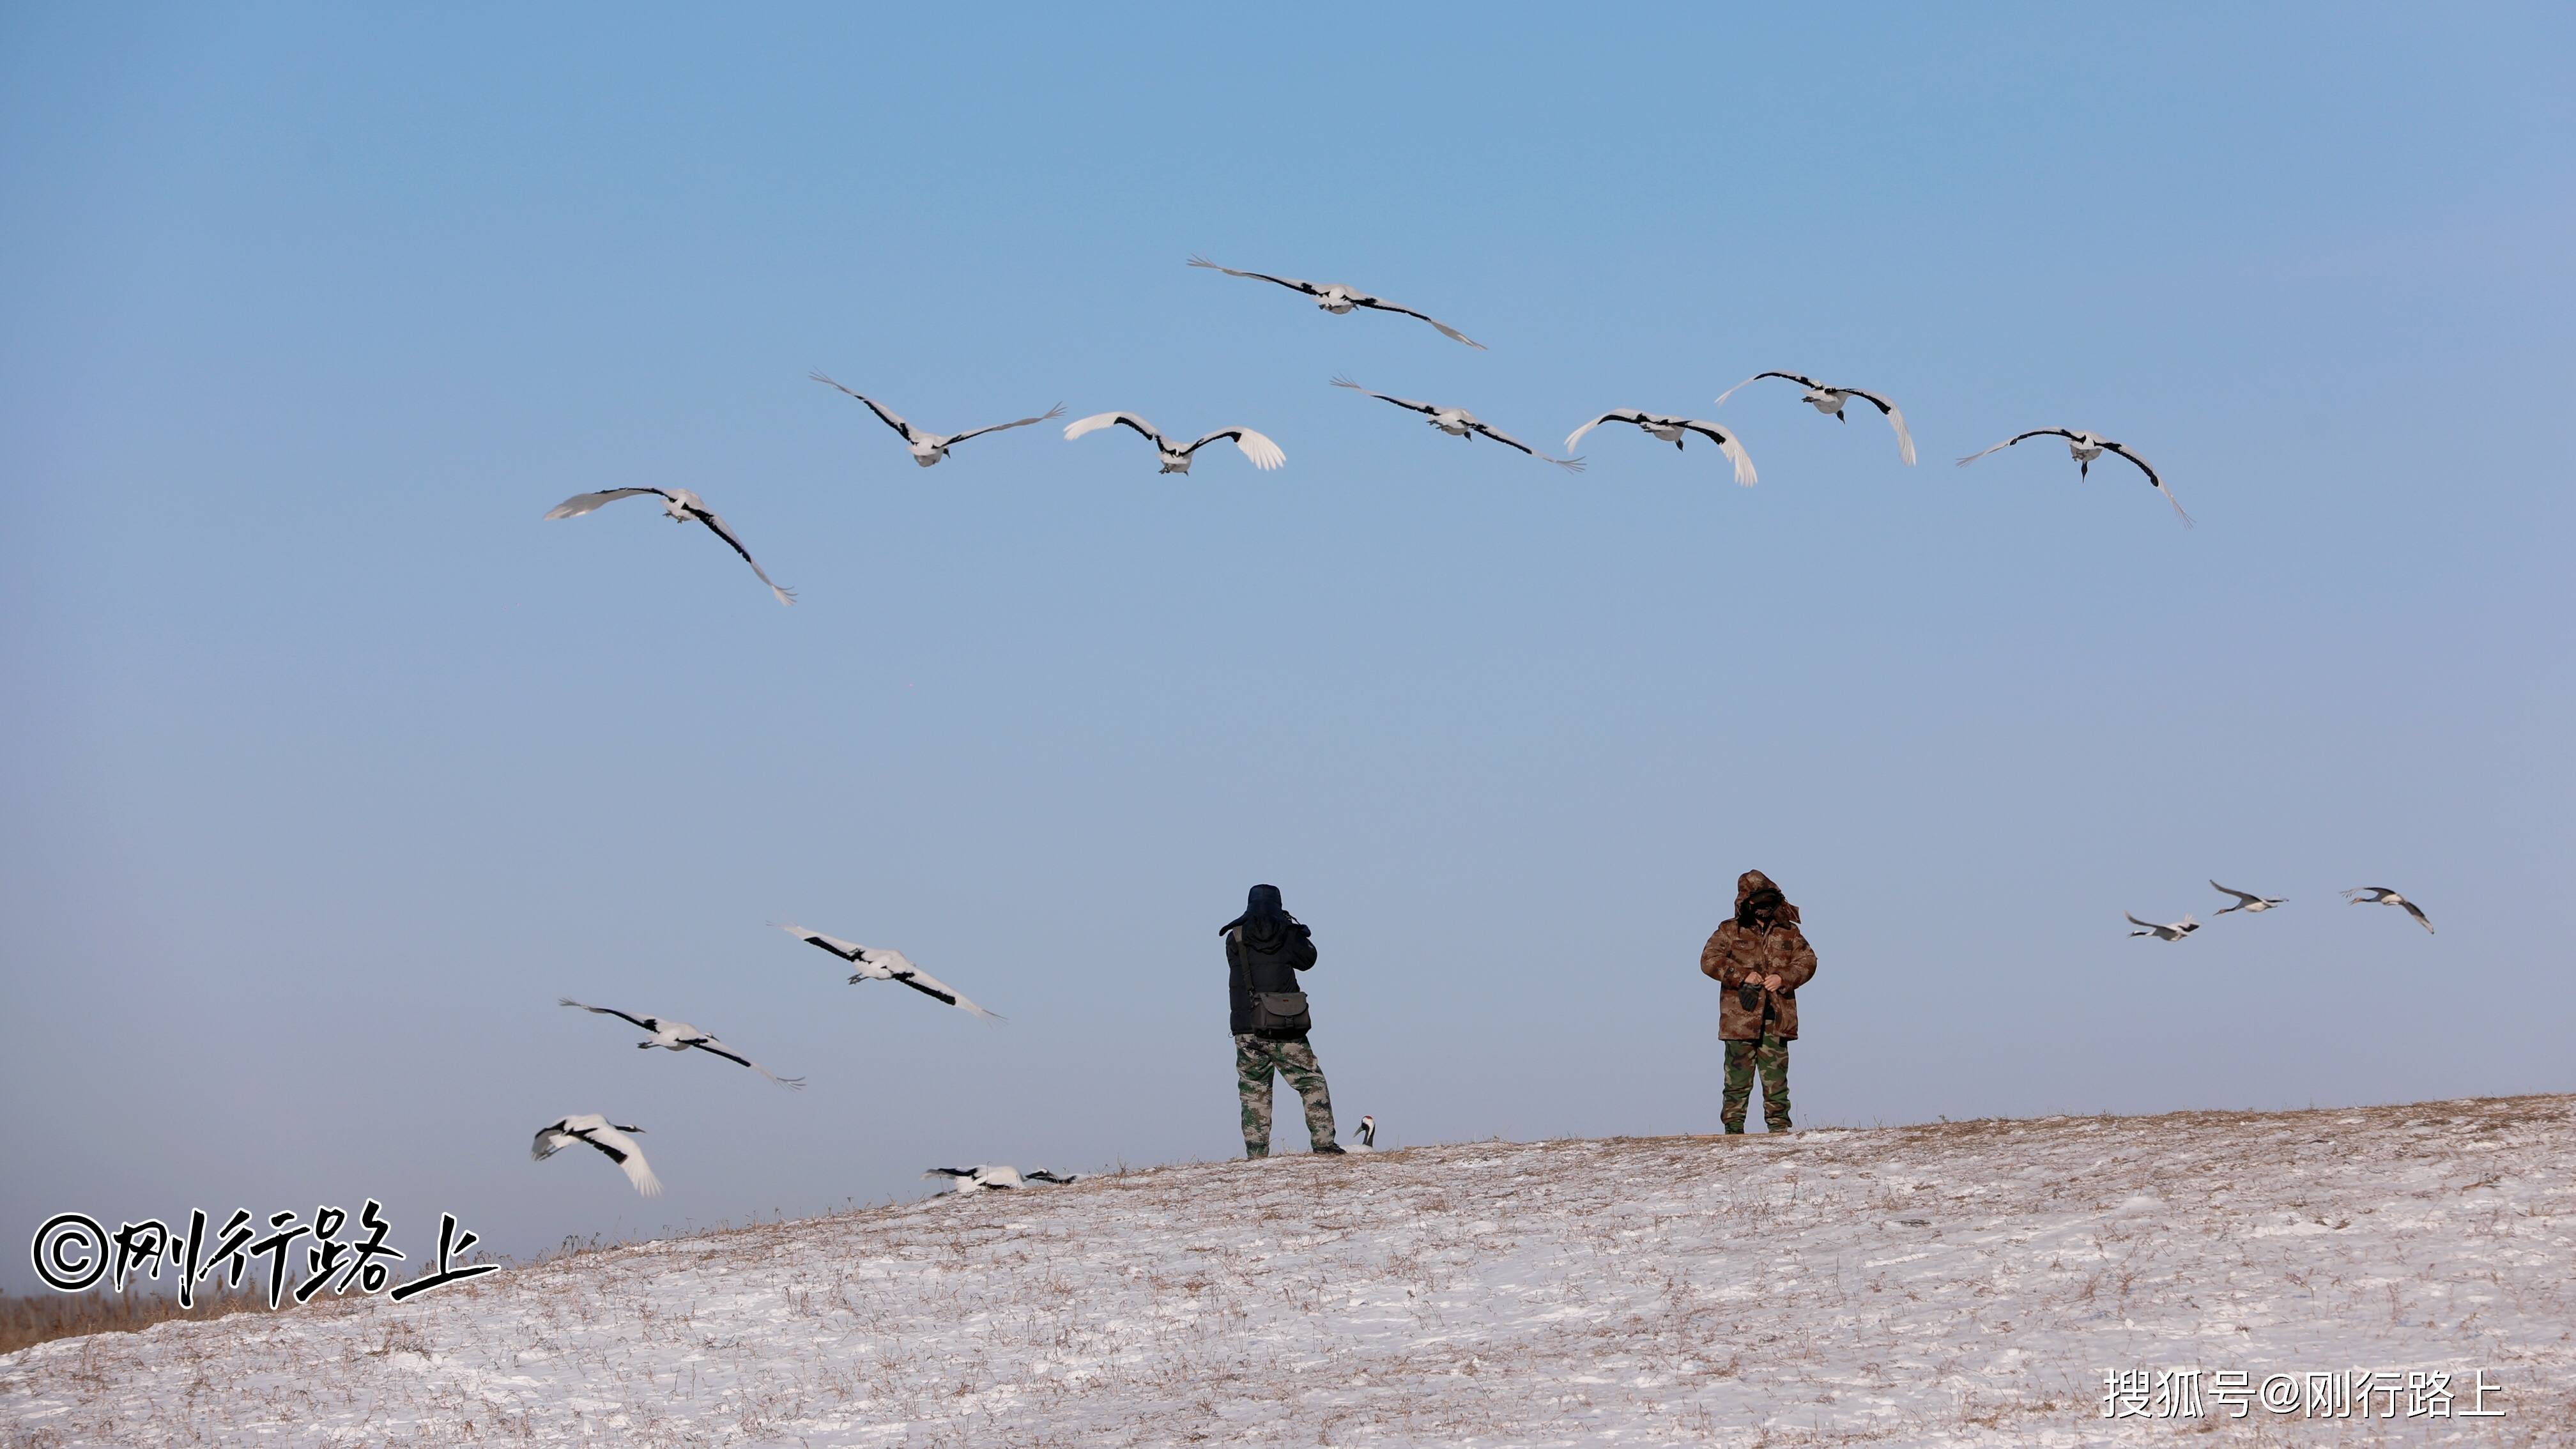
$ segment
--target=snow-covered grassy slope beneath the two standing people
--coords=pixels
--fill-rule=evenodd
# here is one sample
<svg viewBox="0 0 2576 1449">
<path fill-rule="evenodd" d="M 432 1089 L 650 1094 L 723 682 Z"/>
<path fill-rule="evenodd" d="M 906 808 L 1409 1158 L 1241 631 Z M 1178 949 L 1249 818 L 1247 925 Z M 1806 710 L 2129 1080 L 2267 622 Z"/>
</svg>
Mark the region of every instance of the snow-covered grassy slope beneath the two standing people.
<svg viewBox="0 0 2576 1449">
<path fill-rule="evenodd" d="M 2571 1444 L 2576 1098 L 1139 1171 L 0 1359 L 8 1444 Z M 2102 1418 L 2110 1369 L 2501 1418 Z M 2208 1395 L 2205 1395 L 2208 1397 Z M 2370 1395 L 2372 1410 L 2383 1400 Z M 2195 1436 L 2195 1439 L 2184 1439 Z"/>
</svg>

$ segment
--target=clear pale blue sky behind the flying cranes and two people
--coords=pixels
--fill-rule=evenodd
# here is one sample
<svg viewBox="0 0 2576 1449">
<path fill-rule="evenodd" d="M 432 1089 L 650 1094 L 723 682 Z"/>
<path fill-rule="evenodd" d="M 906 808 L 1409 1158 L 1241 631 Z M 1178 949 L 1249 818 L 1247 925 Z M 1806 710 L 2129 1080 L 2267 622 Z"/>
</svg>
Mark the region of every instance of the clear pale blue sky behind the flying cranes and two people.
<svg viewBox="0 0 2576 1449">
<path fill-rule="evenodd" d="M 59 1209 L 526 1253 L 1229 1155 L 1257 879 L 1399 1145 L 1716 1129 L 1747 866 L 1808 1124 L 2576 1088 L 2566 8 L 951 15 L 0 13 L 0 1284 Z M 925 472 L 806 369 L 1288 467 Z M 1922 467 L 1327 387 L 1553 446 L 1757 369 Z M 2038 425 L 2200 526 L 1950 467 Z M 616 485 L 804 601 L 538 521 Z M 2290 905 L 2125 936 L 2208 877 Z"/>
</svg>

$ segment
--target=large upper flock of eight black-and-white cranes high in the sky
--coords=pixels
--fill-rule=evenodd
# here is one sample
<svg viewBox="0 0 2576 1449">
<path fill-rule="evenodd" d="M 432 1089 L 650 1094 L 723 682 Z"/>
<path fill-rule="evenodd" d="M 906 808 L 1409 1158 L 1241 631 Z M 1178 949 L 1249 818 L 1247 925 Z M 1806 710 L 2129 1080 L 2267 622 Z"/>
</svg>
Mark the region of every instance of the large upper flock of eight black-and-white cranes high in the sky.
<svg viewBox="0 0 2576 1449">
<path fill-rule="evenodd" d="M 1303 297 L 1311 297 L 1319 309 L 1324 309 L 1324 312 L 1329 312 L 1334 317 L 1347 317 L 1350 312 L 1391 312 L 1396 317 L 1412 317 L 1417 322 L 1427 322 L 1430 327 L 1435 327 L 1443 338 L 1448 338 L 1453 343 L 1463 343 L 1468 348 L 1486 351 L 1484 343 L 1479 343 L 1476 338 L 1468 338 L 1458 327 L 1450 327 L 1448 322 L 1432 317 L 1430 312 L 1414 312 L 1412 307 L 1401 307 L 1401 304 L 1388 302 L 1383 297 L 1373 297 L 1368 291 L 1360 291 L 1358 286 L 1345 286 L 1340 281 L 1301 281 L 1296 276 L 1273 276 L 1267 271 L 1236 271 L 1231 266 L 1216 266 L 1213 260 L 1195 258 L 1195 255 L 1190 258 L 1190 266 L 1208 268 L 1208 271 L 1221 271 L 1226 276 L 1242 276 L 1242 278 L 1249 278 L 1249 281 L 1267 281 L 1273 286 L 1285 286 L 1288 291 L 1298 291 Z M 953 449 L 953 446 L 958 446 L 958 443 L 963 443 L 969 438 L 981 438 L 987 433 L 1007 433 L 1010 428 L 1028 428 L 1033 423 L 1048 423 L 1048 420 L 1064 415 L 1064 405 L 1059 402 L 1056 407 L 1051 407 L 1046 413 L 1038 413 L 1033 418 L 1015 418 L 1010 423 L 992 423 L 987 428 L 969 428 L 963 433 L 933 433 L 927 428 L 914 428 L 894 407 L 886 407 L 876 397 L 868 397 L 866 392 L 858 392 L 855 387 L 848 387 L 848 384 L 832 379 L 829 374 L 814 371 L 809 376 L 814 382 L 822 382 L 827 387 L 840 389 L 850 400 L 860 402 L 868 413 L 876 413 L 876 418 L 886 428 L 894 428 L 894 436 L 904 441 L 904 451 L 909 451 L 912 462 L 920 464 L 920 467 L 935 467 L 935 464 L 945 462 L 948 459 L 948 449 Z M 1850 418 L 1844 418 L 1844 407 L 1855 397 L 1860 402 L 1868 402 L 1896 431 L 1896 454 L 1906 464 L 1914 462 L 1914 433 L 1906 431 L 1906 415 L 1904 415 L 1904 410 L 1899 410 L 1896 402 L 1891 402 L 1888 397 L 1883 397 L 1878 392 L 1870 392 L 1870 389 L 1862 389 L 1862 387 L 1824 384 L 1824 382 L 1816 382 L 1814 376 L 1795 374 L 1795 371 L 1757 371 L 1757 374 L 1747 376 L 1744 382 L 1739 382 L 1739 384 L 1728 387 L 1726 392 L 1721 392 L 1718 400 L 1710 407 L 1723 407 L 1728 397 L 1734 397 L 1744 387 L 1749 387 L 1754 382 L 1762 382 L 1762 379 L 1770 379 L 1770 376 L 1777 376 L 1783 382 L 1795 382 L 1798 387 L 1803 387 L 1806 394 L 1801 397 L 1801 402 L 1806 402 L 1816 413 L 1824 413 L 1826 418 L 1834 418 L 1834 420 L 1844 420 L 1844 423 L 1850 420 Z M 1396 407 L 1406 407 L 1412 413 L 1422 413 L 1425 420 L 1432 428 L 1437 428 L 1437 431 L 1443 431 L 1443 433 L 1448 433 L 1453 438 L 1476 438 L 1476 436 L 1484 436 L 1484 438 L 1492 438 L 1492 441 L 1497 441 L 1497 443 L 1502 443 L 1507 449 L 1517 449 L 1517 451 L 1522 451 L 1522 454 L 1528 454 L 1528 456 L 1533 456 L 1538 462 L 1556 464 L 1556 467 L 1561 467 L 1566 472 L 1582 472 L 1584 469 L 1584 459 L 1574 456 L 1574 446 L 1582 443 L 1584 433 L 1589 433 L 1592 428 L 1600 428 L 1602 423 L 1628 423 L 1628 425 L 1638 428 L 1641 433 L 1646 433 L 1649 438 L 1654 438 L 1659 443 L 1672 443 L 1680 451 L 1687 451 L 1690 438 L 1700 436 L 1700 438 L 1716 443 L 1718 454 L 1734 467 L 1734 477 L 1736 477 L 1739 485 L 1752 487 L 1757 482 L 1754 459 L 1752 459 L 1752 454 L 1744 451 L 1744 443 L 1736 438 L 1736 433 L 1731 428 L 1721 428 L 1718 423 L 1710 423 L 1705 418 L 1682 418 L 1682 415 L 1646 413 L 1646 410 L 1638 410 L 1638 407 L 1613 407 L 1607 413 L 1600 413 L 1597 418 L 1592 418 L 1582 428 L 1574 428 L 1571 433 L 1566 433 L 1566 446 L 1564 446 L 1566 456 L 1558 459 L 1558 456 L 1540 454 L 1530 443 L 1522 443 L 1520 438 L 1512 438 L 1510 433 L 1502 433 L 1502 431 L 1492 428 L 1489 423 L 1484 423 L 1481 418 L 1476 418 L 1466 407 L 1450 407 L 1450 405 L 1443 405 L 1443 402 L 1417 402 L 1412 397 L 1394 397 L 1394 394 L 1386 394 L 1386 392 L 1370 392 L 1370 389 L 1360 387 L 1358 382 L 1350 382 L 1347 376 L 1337 376 L 1337 379 L 1332 379 L 1332 384 L 1334 387 L 1347 387 L 1352 392 L 1363 392 L 1368 397 L 1376 397 L 1381 402 L 1391 402 Z M 1216 428 L 1213 433 L 1203 433 L 1203 436 L 1182 443 L 1182 441 L 1167 436 L 1154 423 L 1146 423 L 1136 413 L 1092 413 L 1090 418 L 1077 418 L 1077 420 L 1072 420 L 1072 423 L 1064 425 L 1064 438 L 1066 441 L 1082 438 L 1082 436 L 1097 433 L 1103 428 L 1128 428 L 1139 438 L 1154 443 L 1154 462 L 1159 464 L 1159 472 L 1164 472 L 1164 474 L 1188 474 L 1190 472 L 1190 462 L 1208 443 L 1234 443 L 1244 454 L 1244 459 L 1249 459 L 1252 467 L 1257 467 L 1262 472 L 1270 472 L 1270 469 L 1278 469 L 1278 467 L 1288 464 L 1288 454 L 1267 433 L 1260 433 L 1255 428 L 1242 428 L 1242 425 Z M 2161 492 L 2164 500 L 2174 505 L 2174 516 L 2182 518 L 2184 526 L 2192 523 L 2192 516 L 2182 511 L 2182 503 L 2174 498 L 2174 490 L 2169 490 L 2164 485 L 2164 477 L 2154 469 L 2154 464 L 2148 464 L 2143 456 L 2138 456 L 2136 449 L 2130 449 L 2125 443 L 2115 443 L 2115 441 L 2110 441 L 2110 438 L 2105 438 L 2099 433 L 2087 433 L 2087 431 L 2076 431 L 2076 428 L 2032 428 L 2027 433 L 2014 433 L 2014 436 L 2004 438 L 2002 443 L 1986 449 L 1984 454 L 1968 454 L 1968 456 L 1958 459 L 1958 464 L 1968 467 L 1968 464 L 1973 464 L 1976 459 L 1981 459 L 1986 454 L 1996 454 L 1996 451 L 2009 449 L 2014 443 L 2022 443 L 2027 438 L 2066 438 L 2066 451 L 2076 462 L 2076 477 L 2092 477 L 2092 464 L 2102 454 L 2115 454 L 2120 459 L 2128 459 L 2130 464 L 2138 467 L 2138 472 L 2146 474 L 2148 487 L 2154 487 L 2156 492 Z M 662 500 L 662 511 L 675 523 L 706 523 L 706 529 L 711 534 L 716 534 L 719 539 L 724 539 L 726 547 L 732 547 L 737 554 L 742 554 L 742 562 L 752 565 L 752 572 L 760 578 L 760 583 L 765 583 L 770 588 L 770 593 L 778 598 L 778 603 L 796 603 L 796 590 L 793 588 L 781 588 L 778 583 L 773 583 L 770 575 L 760 567 L 760 562 L 752 559 L 752 552 L 742 544 L 742 539 L 734 536 L 734 531 L 724 523 L 724 518 L 719 518 L 716 511 L 711 511 L 703 498 L 698 498 L 696 492 L 690 492 L 685 487 L 611 487 L 605 492 L 580 492 L 580 495 L 567 498 L 564 503 L 554 505 L 546 513 L 546 518 L 580 518 L 585 513 L 595 513 L 605 503 L 616 503 L 618 498 L 636 498 L 636 495 L 647 495 L 647 492 Z"/>
</svg>

